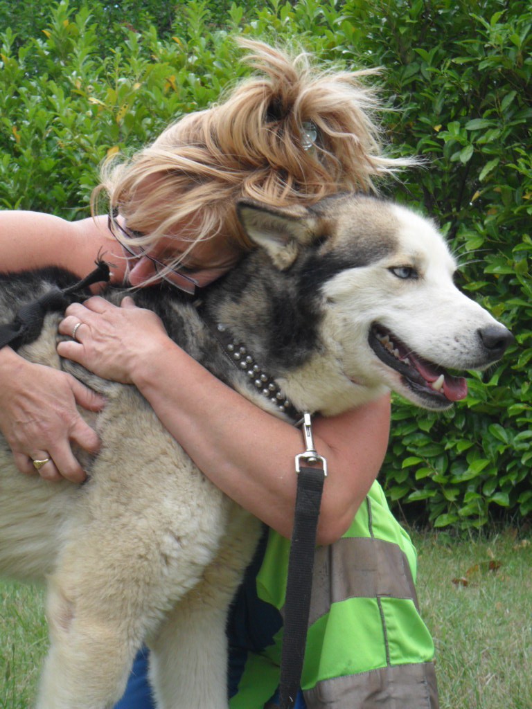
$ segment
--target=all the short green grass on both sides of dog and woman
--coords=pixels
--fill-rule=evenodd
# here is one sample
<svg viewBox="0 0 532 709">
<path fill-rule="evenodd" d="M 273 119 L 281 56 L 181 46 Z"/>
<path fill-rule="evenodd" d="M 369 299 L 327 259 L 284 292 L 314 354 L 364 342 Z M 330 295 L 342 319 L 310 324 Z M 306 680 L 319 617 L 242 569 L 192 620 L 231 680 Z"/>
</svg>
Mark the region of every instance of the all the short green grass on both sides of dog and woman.
<svg viewBox="0 0 532 709">
<path fill-rule="evenodd" d="M 414 543 L 440 709 L 532 709 L 532 543 L 511 530 Z M 0 583 L 0 709 L 32 705 L 46 644 L 42 592 Z"/>
</svg>

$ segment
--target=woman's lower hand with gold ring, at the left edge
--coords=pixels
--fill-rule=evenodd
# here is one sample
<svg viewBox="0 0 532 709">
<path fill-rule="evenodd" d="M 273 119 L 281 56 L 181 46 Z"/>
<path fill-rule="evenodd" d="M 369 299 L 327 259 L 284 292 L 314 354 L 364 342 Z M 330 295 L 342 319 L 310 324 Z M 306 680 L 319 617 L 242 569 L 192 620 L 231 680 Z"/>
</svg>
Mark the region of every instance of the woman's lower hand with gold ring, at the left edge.
<svg viewBox="0 0 532 709">
<path fill-rule="evenodd" d="M 8 347 L 1 350 L 0 390 L 0 430 L 18 469 L 35 474 L 33 460 L 49 459 L 41 477 L 82 482 L 86 474 L 70 444 L 96 453 L 99 439 L 76 405 L 99 411 L 104 399 L 70 374 L 32 364 Z"/>
</svg>

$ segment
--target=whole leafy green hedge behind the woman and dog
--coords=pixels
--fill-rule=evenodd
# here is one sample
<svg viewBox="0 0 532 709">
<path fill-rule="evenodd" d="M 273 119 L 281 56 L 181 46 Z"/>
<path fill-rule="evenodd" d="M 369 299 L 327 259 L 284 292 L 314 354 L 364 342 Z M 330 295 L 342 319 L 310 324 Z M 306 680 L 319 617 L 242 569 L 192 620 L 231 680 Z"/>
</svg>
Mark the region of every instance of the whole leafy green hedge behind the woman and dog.
<svg viewBox="0 0 532 709">
<path fill-rule="evenodd" d="M 86 216 L 97 169 L 243 75 L 231 35 L 381 66 L 396 155 L 384 191 L 436 218 L 458 283 L 516 335 L 443 414 L 394 402 L 382 481 L 410 520 L 482 527 L 532 510 L 532 11 L 517 0 L 0 0 L 0 205 Z M 374 79 L 375 80 L 375 79 Z"/>
</svg>

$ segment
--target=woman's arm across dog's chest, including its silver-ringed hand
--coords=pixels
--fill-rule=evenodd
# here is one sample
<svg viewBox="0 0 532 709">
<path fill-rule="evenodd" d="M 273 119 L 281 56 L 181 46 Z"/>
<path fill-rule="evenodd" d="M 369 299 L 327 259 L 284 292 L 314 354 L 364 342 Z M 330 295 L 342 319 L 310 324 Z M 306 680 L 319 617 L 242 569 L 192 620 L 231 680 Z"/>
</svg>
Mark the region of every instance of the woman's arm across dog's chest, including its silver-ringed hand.
<svg viewBox="0 0 532 709">
<path fill-rule="evenodd" d="M 150 311 L 126 299 L 74 303 L 60 330 L 81 321 L 79 342 L 62 342 L 64 357 L 100 376 L 135 384 L 199 469 L 229 497 L 289 537 L 301 431 L 265 413 L 207 372 L 167 337 Z M 334 418 L 317 418 L 314 442 L 326 457 L 318 542 L 347 530 L 382 464 L 389 433 L 389 397 Z"/>
</svg>

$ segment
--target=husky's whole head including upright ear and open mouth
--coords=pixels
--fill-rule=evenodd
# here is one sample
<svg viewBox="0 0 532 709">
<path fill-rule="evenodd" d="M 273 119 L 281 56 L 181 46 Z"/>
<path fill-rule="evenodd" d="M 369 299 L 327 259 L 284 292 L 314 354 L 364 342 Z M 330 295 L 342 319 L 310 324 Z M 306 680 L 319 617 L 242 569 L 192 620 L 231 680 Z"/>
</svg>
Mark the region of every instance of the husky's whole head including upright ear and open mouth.
<svg viewBox="0 0 532 709">
<path fill-rule="evenodd" d="M 448 247 L 409 209 L 340 195 L 308 209 L 242 201 L 238 211 L 275 268 L 297 281 L 298 297 L 318 302 L 309 312 L 320 320 L 323 366 L 338 369 L 353 403 L 385 386 L 419 406 L 448 408 L 467 394 L 448 369 L 484 369 L 513 340 L 456 288 Z"/>
</svg>

